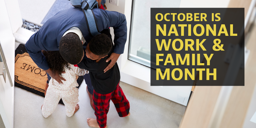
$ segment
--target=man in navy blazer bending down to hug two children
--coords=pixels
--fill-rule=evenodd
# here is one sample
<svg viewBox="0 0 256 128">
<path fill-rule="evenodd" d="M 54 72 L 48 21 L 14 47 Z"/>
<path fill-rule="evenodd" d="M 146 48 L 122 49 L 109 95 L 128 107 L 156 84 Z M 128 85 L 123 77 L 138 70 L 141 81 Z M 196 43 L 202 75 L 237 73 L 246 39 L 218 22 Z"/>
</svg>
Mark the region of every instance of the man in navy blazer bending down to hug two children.
<svg viewBox="0 0 256 128">
<path fill-rule="evenodd" d="M 100 6 L 101 4 L 99 5 L 99 7 Z M 98 31 L 108 29 L 109 27 L 114 28 L 114 52 L 106 60 L 106 62 L 111 60 L 109 65 L 104 69 L 104 72 L 107 72 L 110 68 L 114 66 L 120 54 L 124 52 L 124 45 L 127 38 L 126 19 L 124 14 L 121 14 L 119 12 L 105 11 L 98 8 L 93 8 L 92 11 L 96 18 L 95 22 Z M 61 42 L 61 39 L 66 38 L 67 34 L 73 34 L 73 40 L 75 42 L 80 41 L 81 43 L 81 41 L 83 41 L 84 46 L 86 46 L 87 42 L 92 39 L 92 36 L 90 36 L 89 34 L 84 13 L 81 8 L 70 8 L 58 12 L 55 16 L 47 20 L 41 27 L 41 29 L 30 37 L 25 45 L 32 60 L 39 68 L 43 69 L 48 74 L 48 79 L 51 76 L 59 83 L 62 83 L 61 80 L 65 81 L 65 79 L 59 75 L 53 75 L 52 70 L 49 68 L 48 63 L 45 60 L 41 50 L 60 50 L 61 56 L 64 59 L 67 55 L 74 57 L 73 60 L 65 59 L 68 63 L 78 64 L 81 61 L 82 53 L 84 53 L 83 48 L 79 45 L 73 45 L 72 43 Z M 76 36 L 79 36 L 79 39 L 77 39 Z M 88 58 L 85 56 L 84 59 Z M 90 76 L 87 75 L 84 76 L 84 78 L 88 87 L 87 92 L 89 92 L 88 94 L 92 105 L 93 87 L 91 85 Z"/>
</svg>

